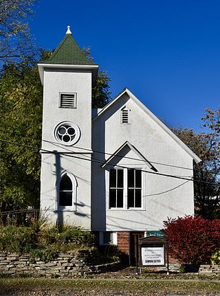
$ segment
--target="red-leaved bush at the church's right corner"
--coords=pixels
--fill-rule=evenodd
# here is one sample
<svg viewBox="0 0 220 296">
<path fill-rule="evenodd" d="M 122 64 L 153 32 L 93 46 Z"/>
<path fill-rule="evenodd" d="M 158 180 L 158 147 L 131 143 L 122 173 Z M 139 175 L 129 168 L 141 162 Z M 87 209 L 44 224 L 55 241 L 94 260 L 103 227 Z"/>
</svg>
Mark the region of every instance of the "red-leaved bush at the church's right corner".
<svg viewBox="0 0 220 296">
<path fill-rule="evenodd" d="M 181 263 L 210 263 L 212 253 L 220 245 L 220 220 L 207 220 L 200 216 L 186 216 L 164 221 L 164 237 L 169 251 Z"/>
</svg>

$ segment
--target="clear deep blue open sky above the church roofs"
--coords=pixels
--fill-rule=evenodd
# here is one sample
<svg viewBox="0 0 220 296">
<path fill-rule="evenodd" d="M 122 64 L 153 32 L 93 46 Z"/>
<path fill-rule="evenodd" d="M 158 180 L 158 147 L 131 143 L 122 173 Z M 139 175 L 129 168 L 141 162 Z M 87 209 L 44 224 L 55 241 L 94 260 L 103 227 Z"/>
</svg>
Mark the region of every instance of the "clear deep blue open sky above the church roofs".
<svg viewBox="0 0 220 296">
<path fill-rule="evenodd" d="M 111 78 L 171 126 L 202 131 L 205 109 L 220 108 L 219 0 L 39 0 L 30 30 L 54 49 L 67 25 Z"/>
</svg>

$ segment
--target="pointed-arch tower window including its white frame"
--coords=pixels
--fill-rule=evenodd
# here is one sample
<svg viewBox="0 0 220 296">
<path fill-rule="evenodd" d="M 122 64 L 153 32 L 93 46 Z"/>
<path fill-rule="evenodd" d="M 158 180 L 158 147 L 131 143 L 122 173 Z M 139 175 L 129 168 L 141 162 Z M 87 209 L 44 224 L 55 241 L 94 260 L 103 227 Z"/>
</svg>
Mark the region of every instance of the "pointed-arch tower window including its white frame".
<svg viewBox="0 0 220 296">
<path fill-rule="evenodd" d="M 74 175 L 65 172 L 58 180 L 57 205 L 58 210 L 76 211 L 76 187 Z"/>
</svg>

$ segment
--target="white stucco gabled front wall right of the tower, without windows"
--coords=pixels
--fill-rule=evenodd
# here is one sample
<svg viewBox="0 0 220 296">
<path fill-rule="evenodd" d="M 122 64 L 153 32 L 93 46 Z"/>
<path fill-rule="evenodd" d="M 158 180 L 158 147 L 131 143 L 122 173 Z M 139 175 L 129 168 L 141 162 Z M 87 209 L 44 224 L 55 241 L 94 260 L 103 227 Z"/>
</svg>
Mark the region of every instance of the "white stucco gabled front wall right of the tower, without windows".
<svg viewBox="0 0 220 296">
<path fill-rule="evenodd" d="M 129 124 L 121 124 L 121 109 L 129 107 Z M 153 163 L 158 172 L 176 176 L 192 177 L 192 157 L 177 144 L 153 119 L 124 95 L 107 111 L 102 113 L 92 125 L 92 148 L 94 159 L 105 161 L 109 158 L 95 151 L 113 153 L 125 141 L 129 141 L 148 159 L 157 163 L 189 168 L 183 170 Z M 133 152 L 127 157 L 138 158 Z M 115 159 L 111 161 L 115 163 Z M 121 166 L 138 166 L 140 161 L 121 159 Z M 148 166 L 143 170 L 151 171 Z M 92 163 L 92 229 L 94 230 L 157 230 L 163 221 L 185 214 L 194 214 L 193 183 L 184 180 L 162 177 L 143 172 L 144 209 L 109 209 L 106 191 L 109 190 L 107 168 L 100 168 L 100 163 Z M 180 187 L 177 187 L 181 185 Z M 175 188 L 177 187 L 177 188 Z M 167 192 L 166 192 L 167 191 Z M 162 193 L 164 192 L 164 193 Z"/>
</svg>

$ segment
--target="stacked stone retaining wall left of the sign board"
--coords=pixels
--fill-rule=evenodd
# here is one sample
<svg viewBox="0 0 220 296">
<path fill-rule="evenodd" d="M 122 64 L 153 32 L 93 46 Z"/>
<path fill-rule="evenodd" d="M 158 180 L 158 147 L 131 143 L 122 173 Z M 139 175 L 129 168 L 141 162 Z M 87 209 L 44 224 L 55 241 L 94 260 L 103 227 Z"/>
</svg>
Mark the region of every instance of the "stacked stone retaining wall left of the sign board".
<svg viewBox="0 0 220 296">
<path fill-rule="evenodd" d="M 56 260 L 32 260 L 29 254 L 0 253 L 0 275 L 32 277 L 74 277 L 119 269 L 120 262 L 91 265 L 81 253 L 59 253 Z"/>
</svg>

